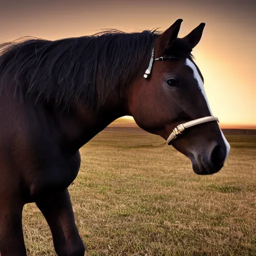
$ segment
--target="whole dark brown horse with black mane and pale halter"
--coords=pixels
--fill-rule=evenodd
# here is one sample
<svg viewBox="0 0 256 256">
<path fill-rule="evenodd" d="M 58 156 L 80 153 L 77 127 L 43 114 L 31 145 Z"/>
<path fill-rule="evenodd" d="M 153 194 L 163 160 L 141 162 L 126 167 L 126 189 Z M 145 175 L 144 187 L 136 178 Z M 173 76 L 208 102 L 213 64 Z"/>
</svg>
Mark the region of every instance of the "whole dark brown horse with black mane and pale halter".
<svg viewBox="0 0 256 256">
<path fill-rule="evenodd" d="M 22 209 L 29 202 L 45 217 L 57 255 L 84 255 L 68 186 L 79 148 L 123 115 L 187 156 L 196 174 L 222 168 L 230 146 L 191 54 L 205 23 L 181 38 L 181 22 L 163 32 L 105 30 L 0 45 L 1 256 L 26 255 Z"/>
</svg>

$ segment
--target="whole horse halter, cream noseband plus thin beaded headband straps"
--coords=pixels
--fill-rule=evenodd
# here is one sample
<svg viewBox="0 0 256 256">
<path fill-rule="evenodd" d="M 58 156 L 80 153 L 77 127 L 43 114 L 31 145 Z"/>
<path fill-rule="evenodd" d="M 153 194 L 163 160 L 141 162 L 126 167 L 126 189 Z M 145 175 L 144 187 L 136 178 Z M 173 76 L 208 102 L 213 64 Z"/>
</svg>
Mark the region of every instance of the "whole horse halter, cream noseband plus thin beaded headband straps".
<svg viewBox="0 0 256 256">
<path fill-rule="evenodd" d="M 154 59 L 154 47 L 152 49 L 152 54 L 150 57 L 150 62 L 148 65 L 148 68 L 146 69 L 145 73 L 144 73 L 144 78 L 148 78 L 151 69 L 152 69 L 152 65 L 153 65 L 153 61 L 164 61 L 164 60 L 169 60 L 169 59 L 178 59 L 178 57 L 174 57 L 174 56 L 161 56 L 158 58 Z M 168 136 L 166 143 L 168 145 L 171 144 L 171 142 L 179 135 L 181 135 L 183 133 L 183 131 L 188 128 L 188 127 L 192 127 L 194 125 L 200 124 L 200 123 L 204 123 L 204 122 L 210 122 L 210 121 L 217 121 L 219 122 L 218 118 L 215 116 L 205 116 L 205 117 L 201 117 L 198 119 L 194 119 L 185 123 L 181 123 L 179 125 L 177 125 L 172 132 L 170 133 L 170 135 Z"/>
</svg>

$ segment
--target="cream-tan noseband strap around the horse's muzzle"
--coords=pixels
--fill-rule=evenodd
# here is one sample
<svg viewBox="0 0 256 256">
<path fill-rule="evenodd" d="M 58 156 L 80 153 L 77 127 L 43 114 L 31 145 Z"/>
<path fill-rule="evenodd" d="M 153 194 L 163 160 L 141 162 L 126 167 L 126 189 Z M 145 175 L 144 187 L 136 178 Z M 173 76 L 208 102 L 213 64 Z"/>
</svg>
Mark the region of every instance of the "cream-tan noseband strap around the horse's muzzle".
<svg viewBox="0 0 256 256">
<path fill-rule="evenodd" d="M 215 117 L 215 116 L 205 116 L 205 117 L 202 117 L 202 118 L 194 119 L 194 120 L 189 121 L 189 122 L 181 123 L 172 130 L 172 132 L 170 133 L 170 135 L 168 136 L 168 138 L 166 140 L 166 143 L 168 145 L 170 145 L 171 144 L 170 142 L 172 142 L 177 136 L 182 134 L 182 132 L 186 128 L 197 125 L 197 124 L 200 124 L 200 123 L 210 122 L 210 121 L 217 121 L 218 122 L 218 118 Z"/>
</svg>

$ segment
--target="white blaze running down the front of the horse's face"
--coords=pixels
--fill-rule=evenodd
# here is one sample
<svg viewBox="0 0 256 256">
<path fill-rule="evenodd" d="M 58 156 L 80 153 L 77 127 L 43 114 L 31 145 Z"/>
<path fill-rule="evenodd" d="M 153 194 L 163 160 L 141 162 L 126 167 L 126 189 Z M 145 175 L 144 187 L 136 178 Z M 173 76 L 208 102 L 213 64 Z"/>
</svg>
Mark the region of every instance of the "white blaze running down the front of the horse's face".
<svg viewBox="0 0 256 256">
<path fill-rule="evenodd" d="M 207 96 L 206 96 L 206 93 L 205 93 L 205 90 L 204 90 L 204 87 L 203 87 L 203 81 L 202 81 L 202 78 L 201 78 L 200 74 L 198 73 L 198 70 L 197 70 L 195 64 L 194 64 L 190 59 L 188 59 L 188 58 L 186 59 L 185 64 L 186 64 L 187 66 L 189 66 L 189 67 L 193 70 L 194 79 L 197 81 L 198 87 L 199 87 L 199 89 L 200 89 L 200 91 L 201 91 L 202 95 L 204 96 L 205 101 L 206 101 L 206 103 L 207 103 L 209 112 L 210 112 L 210 114 L 212 115 L 212 112 L 211 112 L 210 106 L 209 106 L 209 102 L 208 102 L 208 99 L 207 99 Z M 218 126 L 218 127 L 219 127 L 219 126 Z M 220 129 L 220 127 L 219 127 L 219 130 L 220 130 L 220 133 L 221 133 L 222 138 L 223 138 L 223 140 L 224 140 L 224 143 L 225 143 L 225 145 L 226 145 L 226 156 L 225 156 L 225 159 L 224 159 L 224 162 L 225 162 L 225 160 L 226 160 L 226 158 L 227 158 L 227 156 L 228 156 L 228 154 L 229 154 L 229 151 L 230 151 L 230 145 L 229 145 L 229 143 L 227 142 L 227 140 L 226 140 L 226 138 L 225 138 L 225 136 L 224 136 L 222 130 Z"/>
</svg>

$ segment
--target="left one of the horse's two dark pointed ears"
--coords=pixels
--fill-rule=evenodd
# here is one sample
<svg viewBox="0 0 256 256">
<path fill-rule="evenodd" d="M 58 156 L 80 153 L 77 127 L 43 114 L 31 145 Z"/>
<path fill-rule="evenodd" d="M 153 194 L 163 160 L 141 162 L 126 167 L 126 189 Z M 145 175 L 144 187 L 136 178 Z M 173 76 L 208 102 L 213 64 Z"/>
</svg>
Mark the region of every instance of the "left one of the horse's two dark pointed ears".
<svg viewBox="0 0 256 256">
<path fill-rule="evenodd" d="M 178 31 L 183 19 L 177 19 L 169 28 L 167 28 L 162 34 L 160 34 L 156 40 L 156 50 L 164 52 L 168 49 L 178 36 Z"/>
</svg>

